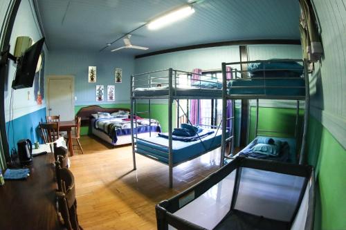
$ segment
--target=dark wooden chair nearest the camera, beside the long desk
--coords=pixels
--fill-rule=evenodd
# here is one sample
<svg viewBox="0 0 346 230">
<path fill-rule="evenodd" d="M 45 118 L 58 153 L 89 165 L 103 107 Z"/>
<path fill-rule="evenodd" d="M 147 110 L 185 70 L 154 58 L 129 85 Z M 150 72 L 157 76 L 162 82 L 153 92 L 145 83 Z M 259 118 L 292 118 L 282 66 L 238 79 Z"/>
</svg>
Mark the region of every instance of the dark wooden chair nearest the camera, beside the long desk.
<svg viewBox="0 0 346 230">
<path fill-rule="evenodd" d="M 57 210 L 60 212 L 66 229 L 80 230 L 75 199 L 75 178 L 67 168 L 57 169 Z"/>
</svg>

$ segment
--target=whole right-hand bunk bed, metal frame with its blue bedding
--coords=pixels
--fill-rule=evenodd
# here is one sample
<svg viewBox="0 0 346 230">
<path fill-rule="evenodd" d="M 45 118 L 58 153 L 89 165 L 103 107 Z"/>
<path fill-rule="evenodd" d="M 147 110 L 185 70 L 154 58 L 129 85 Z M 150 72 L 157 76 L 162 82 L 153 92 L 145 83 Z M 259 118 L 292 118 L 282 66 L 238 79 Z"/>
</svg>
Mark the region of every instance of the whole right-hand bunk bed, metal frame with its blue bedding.
<svg viewBox="0 0 346 230">
<path fill-rule="evenodd" d="M 240 70 L 239 70 L 240 67 Z M 223 104 L 227 104 L 228 100 L 235 99 L 255 99 L 256 100 L 256 121 L 255 121 L 255 140 L 253 140 L 246 148 L 237 153 L 248 157 L 259 159 L 278 160 L 283 162 L 295 163 L 296 155 L 300 155 L 299 162 L 304 162 L 304 148 L 307 135 L 307 125 L 309 118 L 309 79 L 307 78 L 307 63 L 302 59 L 269 59 L 257 61 L 242 61 L 233 63 L 223 63 Z M 232 73 L 235 79 L 227 79 L 227 74 Z M 284 99 L 296 101 L 295 113 L 295 132 L 289 137 L 282 137 L 283 133 L 273 130 L 260 130 L 258 128 L 259 117 L 259 99 Z M 300 101 L 304 101 L 304 126 L 302 137 L 299 137 L 298 122 Z M 226 109 L 223 108 L 223 117 L 226 115 Z M 248 117 L 250 119 L 250 116 Z M 225 123 L 226 120 L 223 119 Z M 224 124 L 222 125 L 224 127 Z M 274 134 L 273 134 L 274 133 Z M 280 146 L 280 154 L 262 153 L 260 148 L 255 148 L 260 139 L 267 137 L 266 140 L 272 140 L 273 143 L 284 143 L 285 148 Z M 301 140 L 301 143 L 298 143 Z M 223 129 L 222 146 L 230 140 L 226 137 L 226 129 Z M 271 143 L 271 144 L 273 144 Z M 298 144 L 300 144 L 300 154 L 298 154 Z M 271 145 L 268 143 L 263 146 Z M 225 147 L 223 147 L 225 149 Z M 267 150 L 267 149 L 266 149 Z M 272 150 L 272 149 L 270 149 Z M 221 152 L 221 158 L 226 157 L 230 160 L 231 157 L 224 155 Z M 224 162 L 224 161 L 223 161 Z"/>
</svg>

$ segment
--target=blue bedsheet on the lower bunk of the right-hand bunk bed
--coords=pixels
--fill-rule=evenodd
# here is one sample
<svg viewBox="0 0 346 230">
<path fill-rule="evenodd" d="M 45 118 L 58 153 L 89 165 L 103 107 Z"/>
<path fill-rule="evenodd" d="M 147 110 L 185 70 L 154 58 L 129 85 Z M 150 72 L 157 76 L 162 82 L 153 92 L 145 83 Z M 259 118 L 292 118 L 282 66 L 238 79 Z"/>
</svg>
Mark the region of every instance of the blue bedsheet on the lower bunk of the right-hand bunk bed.
<svg viewBox="0 0 346 230">
<path fill-rule="evenodd" d="M 276 160 L 280 162 L 291 162 L 296 163 L 296 142 L 294 138 L 284 138 L 284 137 L 272 137 L 274 141 L 280 140 L 282 142 L 282 148 L 280 154 L 277 157 L 271 155 L 263 155 L 260 153 L 253 153 L 251 148 L 257 144 L 257 140 L 260 137 L 257 136 L 255 140 L 253 140 L 248 146 L 246 146 L 242 151 L 240 151 L 237 155 L 243 155 L 246 157 L 253 157 L 257 159 L 265 159 L 265 160 Z"/>
</svg>

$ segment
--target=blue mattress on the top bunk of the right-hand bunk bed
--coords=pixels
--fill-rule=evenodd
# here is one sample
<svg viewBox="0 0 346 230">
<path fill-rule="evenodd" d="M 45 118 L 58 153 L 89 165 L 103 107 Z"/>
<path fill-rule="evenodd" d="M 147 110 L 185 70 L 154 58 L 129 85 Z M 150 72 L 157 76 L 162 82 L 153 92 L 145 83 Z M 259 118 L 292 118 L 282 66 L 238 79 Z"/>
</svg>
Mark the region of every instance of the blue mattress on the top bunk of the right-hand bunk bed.
<svg viewBox="0 0 346 230">
<path fill-rule="evenodd" d="M 234 86 L 246 86 L 244 88 L 233 88 Z M 253 86 L 262 86 L 252 88 Z M 289 88 L 275 88 L 275 86 L 286 86 Z M 273 87 L 273 88 L 272 88 Z M 305 96 L 305 81 L 302 77 L 291 79 L 248 79 L 233 80 L 228 84 L 230 95 L 271 95 L 271 96 Z"/>
</svg>

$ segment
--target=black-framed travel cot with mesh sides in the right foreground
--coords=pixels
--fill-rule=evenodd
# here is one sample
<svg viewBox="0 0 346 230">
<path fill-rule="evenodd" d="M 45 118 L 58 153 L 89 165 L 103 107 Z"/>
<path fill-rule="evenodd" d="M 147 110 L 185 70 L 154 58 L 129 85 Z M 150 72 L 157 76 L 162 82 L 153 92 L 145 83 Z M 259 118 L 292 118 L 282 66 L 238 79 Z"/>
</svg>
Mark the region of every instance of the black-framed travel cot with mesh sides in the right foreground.
<svg viewBox="0 0 346 230">
<path fill-rule="evenodd" d="M 236 157 L 156 205 L 158 229 L 313 229 L 313 168 Z"/>
</svg>

